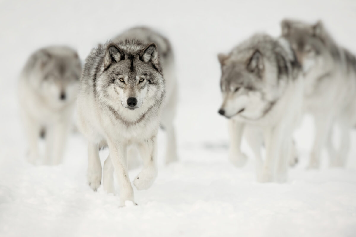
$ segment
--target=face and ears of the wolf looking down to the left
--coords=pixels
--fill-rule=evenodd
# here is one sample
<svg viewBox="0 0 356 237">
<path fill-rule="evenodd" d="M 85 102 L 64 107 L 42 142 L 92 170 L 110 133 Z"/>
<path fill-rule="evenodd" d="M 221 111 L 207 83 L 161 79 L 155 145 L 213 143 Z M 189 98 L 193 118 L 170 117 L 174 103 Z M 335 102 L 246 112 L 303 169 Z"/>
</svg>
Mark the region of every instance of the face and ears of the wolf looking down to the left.
<svg viewBox="0 0 356 237">
<path fill-rule="evenodd" d="M 224 99 L 219 113 L 227 118 L 237 114 L 247 118 L 260 118 L 270 106 L 263 98 L 265 66 L 261 52 L 255 50 L 250 58 L 229 60 L 226 64 L 224 55 L 220 54 L 219 59 Z"/>
</svg>

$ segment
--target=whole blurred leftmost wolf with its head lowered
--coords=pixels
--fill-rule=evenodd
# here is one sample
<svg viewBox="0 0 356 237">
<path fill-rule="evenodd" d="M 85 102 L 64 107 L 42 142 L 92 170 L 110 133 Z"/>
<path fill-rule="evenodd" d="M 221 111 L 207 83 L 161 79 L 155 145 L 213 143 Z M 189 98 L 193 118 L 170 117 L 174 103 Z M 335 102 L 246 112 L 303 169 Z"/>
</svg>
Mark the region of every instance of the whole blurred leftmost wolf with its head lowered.
<svg viewBox="0 0 356 237">
<path fill-rule="evenodd" d="M 31 163 L 40 161 L 40 136 L 46 139 L 42 163 L 62 162 L 81 71 L 77 52 L 67 46 L 39 49 L 27 60 L 20 74 L 18 96 Z"/>
</svg>

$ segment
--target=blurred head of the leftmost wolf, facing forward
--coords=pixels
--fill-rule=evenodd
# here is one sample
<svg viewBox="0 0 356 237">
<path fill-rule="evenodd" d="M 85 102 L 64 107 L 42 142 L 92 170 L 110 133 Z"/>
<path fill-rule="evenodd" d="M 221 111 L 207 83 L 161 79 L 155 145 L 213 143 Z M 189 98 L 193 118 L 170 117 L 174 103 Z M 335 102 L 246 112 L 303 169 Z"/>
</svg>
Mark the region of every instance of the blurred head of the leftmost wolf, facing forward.
<svg viewBox="0 0 356 237">
<path fill-rule="evenodd" d="M 78 54 L 67 47 L 49 47 L 34 54 L 30 84 L 53 107 L 75 100 L 82 71 Z"/>
</svg>

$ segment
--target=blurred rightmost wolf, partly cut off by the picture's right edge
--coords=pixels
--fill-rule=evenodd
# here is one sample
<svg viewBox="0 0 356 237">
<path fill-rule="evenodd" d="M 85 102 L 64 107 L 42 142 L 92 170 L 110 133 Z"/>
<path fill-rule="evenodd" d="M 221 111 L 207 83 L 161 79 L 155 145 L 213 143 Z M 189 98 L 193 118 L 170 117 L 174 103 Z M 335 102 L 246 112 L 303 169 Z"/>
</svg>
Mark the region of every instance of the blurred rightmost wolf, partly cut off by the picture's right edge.
<svg viewBox="0 0 356 237">
<path fill-rule="evenodd" d="M 325 145 L 330 166 L 345 166 L 350 148 L 350 128 L 356 124 L 356 59 L 339 47 L 319 21 L 313 25 L 283 20 L 282 36 L 302 64 L 306 112 L 315 120 L 315 139 L 309 168 L 318 168 Z M 333 146 L 332 129 L 341 131 L 339 151 Z"/>
</svg>

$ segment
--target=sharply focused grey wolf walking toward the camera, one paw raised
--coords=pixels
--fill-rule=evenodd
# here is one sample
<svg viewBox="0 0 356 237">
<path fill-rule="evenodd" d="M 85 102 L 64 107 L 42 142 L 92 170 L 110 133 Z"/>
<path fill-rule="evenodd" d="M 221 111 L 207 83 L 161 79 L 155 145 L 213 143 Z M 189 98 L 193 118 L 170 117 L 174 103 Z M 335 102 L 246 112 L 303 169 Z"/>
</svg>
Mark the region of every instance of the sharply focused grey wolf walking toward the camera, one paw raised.
<svg viewBox="0 0 356 237">
<path fill-rule="evenodd" d="M 166 95 L 157 45 L 138 39 L 99 44 L 85 60 L 77 99 L 78 128 L 88 139 L 88 183 L 101 183 L 99 144 L 107 144 L 103 186 L 120 188 L 120 206 L 134 201 L 127 171 L 127 148 L 137 146 L 142 171 L 133 184 L 149 188 L 157 176 L 156 136 Z"/>
</svg>

